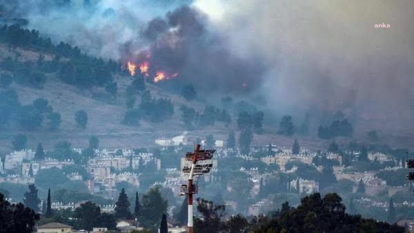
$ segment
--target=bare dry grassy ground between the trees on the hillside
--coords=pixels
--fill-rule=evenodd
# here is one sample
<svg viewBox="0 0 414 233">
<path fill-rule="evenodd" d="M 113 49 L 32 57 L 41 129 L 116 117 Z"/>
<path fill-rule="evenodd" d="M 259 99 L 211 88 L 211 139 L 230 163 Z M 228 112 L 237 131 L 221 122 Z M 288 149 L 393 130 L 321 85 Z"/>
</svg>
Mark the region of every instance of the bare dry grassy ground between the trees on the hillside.
<svg viewBox="0 0 414 233">
<path fill-rule="evenodd" d="M 44 61 L 52 61 L 55 55 L 48 52 L 37 52 L 31 49 L 14 48 L 6 43 L 0 43 L 0 59 L 4 60 L 8 57 L 16 59 L 24 63 L 29 61 L 35 63 L 39 56 L 44 56 Z M 68 59 L 63 58 L 61 62 L 65 63 Z M 4 72 L 4 71 L 3 71 Z M 206 100 L 195 99 L 193 101 L 186 101 L 179 94 L 172 93 L 164 88 L 161 88 L 157 83 L 146 83 L 146 90 L 150 90 L 152 97 L 156 99 L 166 98 L 172 101 L 175 108 L 175 113 L 172 117 L 161 123 L 152 123 L 150 121 L 140 121 L 140 125 L 123 125 L 121 121 L 127 110 L 126 108 L 126 88 L 132 83 L 132 77 L 126 74 L 115 74 L 113 77 L 118 85 L 118 92 L 116 98 L 101 97 L 105 93 L 103 87 L 94 86 L 89 89 L 79 89 L 75 85 L 63 83 L 58 77 L 59 74 L 46 74 L 47 81 L 43 88 L 31 88 L 28 85 L 21 85 L 13 82 L 10 88 L 16 90 L 19 95 L 19 101 L 22 105 L 32 103 L 34 99 L 47 99 L 52 108 L 61 114 L 61 125 L 57 132 L 48 132 L 41 128 L 36 131 L 19 130 L 18 127 L 8 127 L 0 134 L 0 151 L 6 153 L 11 150 L 11 141 L 16 134 L 26 134 L 28 136 L 28 147 L 35 148 L 37 143 L 43 143 L 43 146 L 53 148 L 59 141 L 69 141 L 72 146 L 84 148 L 88 145 L 88 139 L 92 135 L 99 136 L 100 145 L 102 148 L 139 148 L 150 147 L 154 144 L 155 139 L 160 137 L 172 137 L 183 134 L 186 131 L 184 123 L 181 121 L 181 105 L 187 105 L 195 108 L 197 111 L 204 110 Z M 135 106 L 140 103 L 140 95 L 137 94 Z M 88 125 L 85 130 L 77 128 L 74 114 L 77 110 L 86 110 L 88 112 Z M 215 139 L 225 140 L 231 130 L 237 132 L 237 123 L 235 122 L 237 116 L 232 111 L 232 123 L 225 125 L 222 122 L 216 121 L 214 126 L 204 127 L 201 130 L 193 130 L 188 132 L 188 136 L 204 138 L 207 134 L 214 134 Z M 268 117 L 268 116 L 267 116 Z M 266 117 L 265 117 L 266 118 Z M 265 119 L 266 122 L 266 119 Z M 275 121 L 270 121 L 275 122 Z M 280 136 L 276 134 L 277 123 L 264 125 L 263 134 L 255 134 L 253 145 L 264 145 L 268 143 L 276 143 L 277 145 L 284 145 L 290 147 L 293 143 L 293 138 Z M 361 132 L 359 139 L 364 139 Z M 302 137 L 299 138 L 302 146 L 306 148 L 326 148 L 329 141 L 317 139 L 316 137 Z M 407 138 L 389 137 L 395 143 L 394 145 L 409 145 Z M 348 143 L 350 139 L 336 139 L 342 143 Z M 388 139 L 387 139 L 388 140 Z"/>
</svg>

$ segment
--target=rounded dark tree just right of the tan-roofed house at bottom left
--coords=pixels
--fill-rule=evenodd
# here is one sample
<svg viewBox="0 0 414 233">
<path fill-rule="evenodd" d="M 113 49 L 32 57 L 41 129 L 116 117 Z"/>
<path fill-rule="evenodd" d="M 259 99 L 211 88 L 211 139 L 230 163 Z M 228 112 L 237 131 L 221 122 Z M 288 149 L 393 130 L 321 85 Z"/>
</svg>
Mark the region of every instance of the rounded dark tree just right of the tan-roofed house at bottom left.
<svg viewBox="0 0 414 233">
<path fill-rule="evenodd" d="M 101 216 L 101 208 L 95 203 L 87 201 L 75 209 L 74 216 L 79 219 L 79 227 L 92 230 L 96 219 Z"/>
</svg>

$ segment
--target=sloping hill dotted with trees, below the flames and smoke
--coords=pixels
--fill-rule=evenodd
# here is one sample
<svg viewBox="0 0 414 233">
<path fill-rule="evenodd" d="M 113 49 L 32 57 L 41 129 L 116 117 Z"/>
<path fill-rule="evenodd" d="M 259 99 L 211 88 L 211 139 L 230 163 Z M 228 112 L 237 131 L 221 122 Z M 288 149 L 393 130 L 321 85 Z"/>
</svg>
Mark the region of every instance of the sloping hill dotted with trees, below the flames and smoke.
<svg viewBox="0 0 414 233">
<path fill-rule="evenodd" d="M 39 142 L 52 148 L 59 141 L 83 147 L 92 135 L 106 148 L 148 146 L 183 131 L 226 139 L 237 131 L 237 112 L 246 109 L 245 117 L 254 121 L 248 128 L 261 133 L 255 139 L 272 139 L 262 130 L 263 113 L 249 103 L 227 97 L 222 103 L 229 110 L 210 105 L 191 83 L 166 88 L 139 72 L 131 77 L 124 64 L 68 43 L 54 45 L 37 30 L 2 26 L 0 51 L 2 151 L 12 148 L 17 134 L 28 137 L 28 148 Z"/>
</svg>

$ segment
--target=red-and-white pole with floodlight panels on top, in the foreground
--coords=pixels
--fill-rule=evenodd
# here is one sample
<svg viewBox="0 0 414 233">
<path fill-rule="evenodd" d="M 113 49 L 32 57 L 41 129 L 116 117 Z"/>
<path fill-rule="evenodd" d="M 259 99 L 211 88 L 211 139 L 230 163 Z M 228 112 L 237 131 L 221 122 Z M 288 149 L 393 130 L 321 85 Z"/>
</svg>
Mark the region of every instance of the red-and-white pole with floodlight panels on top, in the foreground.
<svg viewBox="0 0 414 233">
<path fill-rule="evenodd" d="M 197 144 L 194 152 L 188 152 L 186 154 L 185 160 L 187 161 L 184 164 L 182 172 L 184 176 L 188 175 L 188 184 L 181 185 L 181 196 L 188 195 L 188 224 L 187 232 L 193 233 L 193 194 L 198 193 L 197 181 L 199 175 L 206 174 L 210 172 L 213 167 L 213 158 L 215 150 L 200 150 L 200 144 Z M 188 164 L 191 162 L 190 164 Z M 199 163 L 197 163 L 199 162 Z M 196 180 L 193 183 L 193 179 Z"/>
</svg>

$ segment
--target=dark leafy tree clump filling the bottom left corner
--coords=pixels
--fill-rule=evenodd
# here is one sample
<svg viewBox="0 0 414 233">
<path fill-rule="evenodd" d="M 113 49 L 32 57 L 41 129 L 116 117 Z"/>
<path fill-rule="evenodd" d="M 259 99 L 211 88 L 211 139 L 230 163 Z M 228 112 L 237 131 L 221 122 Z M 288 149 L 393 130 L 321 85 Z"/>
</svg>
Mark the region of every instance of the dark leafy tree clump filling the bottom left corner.
<svg viewBox="0 0 414 233">
<path fill-rule="evenodd" d="M 21 203 L 10 204 L 0 193 L 0 219 L 1 233 L 31 233 L 39 221 L 39 214 Z"/>
</svg>

